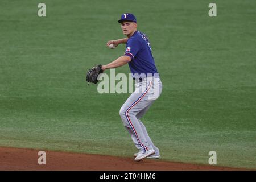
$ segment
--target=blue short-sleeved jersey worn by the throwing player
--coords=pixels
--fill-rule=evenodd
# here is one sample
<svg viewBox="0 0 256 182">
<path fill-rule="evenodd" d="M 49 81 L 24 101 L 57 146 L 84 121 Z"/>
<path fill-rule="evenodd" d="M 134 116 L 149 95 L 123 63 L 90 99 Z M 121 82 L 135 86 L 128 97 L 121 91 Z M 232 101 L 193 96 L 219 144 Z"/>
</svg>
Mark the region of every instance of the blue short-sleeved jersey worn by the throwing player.
<svg viewBox="0 0 256 182">
<path fill-rule="evenodd" d="M 152 76 L 158 73 L 151 53 L 150 42 L 142 32 L 135 31 L 127 40 L 124 55 L 131 57 L 129 62 L 131 73 L 139 75 L 151 73 Z"/>
</svg>

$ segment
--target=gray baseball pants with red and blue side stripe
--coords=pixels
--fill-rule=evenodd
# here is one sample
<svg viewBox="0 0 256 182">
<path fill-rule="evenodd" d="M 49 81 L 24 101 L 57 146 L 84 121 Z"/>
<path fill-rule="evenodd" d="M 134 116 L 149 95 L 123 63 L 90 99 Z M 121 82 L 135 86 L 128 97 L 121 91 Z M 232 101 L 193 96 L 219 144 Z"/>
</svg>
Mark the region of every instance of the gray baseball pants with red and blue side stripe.
<svg viewBox="0 0 256 182">
<path fill-rule="evenodd" d="M 135 146 L 140 150 L 159 149 L 149 137 L 146 127 L 140 120 L 150 106 L 162 93 L 162 82 L 159 77 L 135 79 L 135 91 L 120 109 L 123 125 L 129 131 Z"/>
</svg>

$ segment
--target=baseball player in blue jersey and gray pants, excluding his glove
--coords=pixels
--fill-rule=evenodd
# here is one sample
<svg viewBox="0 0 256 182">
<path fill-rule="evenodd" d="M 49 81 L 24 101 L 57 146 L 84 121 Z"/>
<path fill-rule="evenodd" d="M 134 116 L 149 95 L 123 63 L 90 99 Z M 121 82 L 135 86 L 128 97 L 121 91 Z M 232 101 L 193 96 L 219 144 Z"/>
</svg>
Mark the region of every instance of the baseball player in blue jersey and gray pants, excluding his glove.
<svg viewBox="0 0 256 182">
<path fill-rule="evenodd" d="M 110 40 L 107 46 L 126 43 L 125 53 L 112 63 L 102 65 L 102 70 L 129 64 L 135 80 L 135 91 L 120 109 L 120 116 L 129 131 L 139 152 L 134 154 L 135 161 L 143 158 L 160 158 L 159 149 L 150 139 L 146 127 L 140 120 L 162 92 L 162 82 L 151 53 L 150 42 L 145 34 L 137 30 L 137 20 L 133 14 L 125 13 L 118 20 L 121 23 L 124 39 Z"/>
</svg>

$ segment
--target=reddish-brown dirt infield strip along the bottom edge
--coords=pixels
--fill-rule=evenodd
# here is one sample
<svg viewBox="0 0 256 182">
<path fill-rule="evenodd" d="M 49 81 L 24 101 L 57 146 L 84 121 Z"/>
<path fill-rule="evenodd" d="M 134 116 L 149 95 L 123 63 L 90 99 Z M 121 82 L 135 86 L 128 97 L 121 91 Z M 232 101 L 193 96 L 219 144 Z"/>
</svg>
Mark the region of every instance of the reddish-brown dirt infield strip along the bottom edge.
<svg viewBox="0 0 256 182">
<path fill-rule="evenodd" d="M 203 166 L 115 156 L 76 154 L 46 151 L 46 165 L 38 164 L 39 150 L 0 147 L 0 170 L 84 170 L 84 171 L 175 171 L 175 170 L 241 170 L 236 168 Z"/>
</svg>

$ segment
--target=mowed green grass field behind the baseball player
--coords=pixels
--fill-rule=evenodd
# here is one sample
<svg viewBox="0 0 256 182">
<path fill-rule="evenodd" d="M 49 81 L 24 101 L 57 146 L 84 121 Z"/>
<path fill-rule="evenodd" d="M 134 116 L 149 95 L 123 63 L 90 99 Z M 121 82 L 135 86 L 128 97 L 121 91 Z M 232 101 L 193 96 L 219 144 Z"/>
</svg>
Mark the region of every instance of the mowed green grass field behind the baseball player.
<svg viewBox="0 0 256 182">
<path fill-rule="evenodd" d="M 256 169 L 256 2 L 0 2 L 0 146 L 115 156 L 136 152 L 119 117 L 129 94 L 99 94 L 85 76 L 125 51 L 117 23 L 134 13 L 163 93 L 142 118 L 162 160 Z M 129 73 L 128 65 L 115 70 Z M 106 71 L 106 73 L 110 73 Z M 1 163 L 1 162 L 0 162 Z"/>
</svg>

